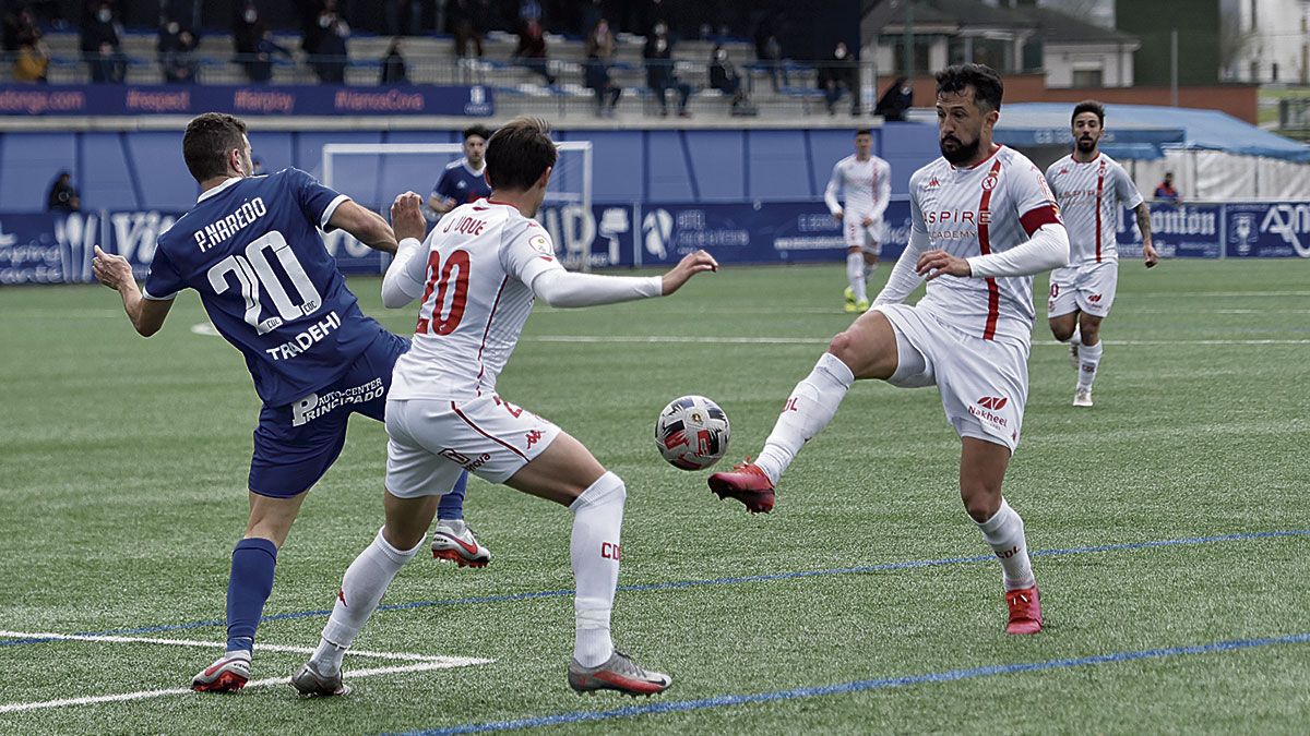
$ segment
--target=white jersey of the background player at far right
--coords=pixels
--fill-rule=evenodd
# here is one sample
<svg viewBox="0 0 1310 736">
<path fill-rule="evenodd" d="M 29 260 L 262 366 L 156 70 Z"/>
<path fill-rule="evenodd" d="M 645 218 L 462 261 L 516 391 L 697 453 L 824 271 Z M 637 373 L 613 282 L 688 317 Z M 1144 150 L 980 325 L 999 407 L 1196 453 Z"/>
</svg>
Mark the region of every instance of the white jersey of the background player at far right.
<svg viewBox="0 0 1310 736">
<path fill-rule="evenodd" d="M 1119 208 L 1142 203 L 1128 172 L 1100 153 L 1087 162 L 1073 155 L 1051 164 L 1047 182 L 1056 194 L 1065 228 L 1069 230 L 1069 265 L 1119 261 Z"/>
</svg>

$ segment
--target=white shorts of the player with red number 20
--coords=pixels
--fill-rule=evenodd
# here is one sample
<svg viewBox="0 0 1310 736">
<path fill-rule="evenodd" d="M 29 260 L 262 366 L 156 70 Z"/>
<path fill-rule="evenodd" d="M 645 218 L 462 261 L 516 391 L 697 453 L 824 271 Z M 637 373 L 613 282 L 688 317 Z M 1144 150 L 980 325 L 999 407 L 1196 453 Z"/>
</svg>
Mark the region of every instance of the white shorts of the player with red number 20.
<svg viewBox="0 0 1310 736">
<path fill-rule="evenodd" d="M 559 436 L 559 427 L 495 394 L 386 402 L 386 490 L 435 496 L 468 470 L 503 483 Z"/>
</svg>

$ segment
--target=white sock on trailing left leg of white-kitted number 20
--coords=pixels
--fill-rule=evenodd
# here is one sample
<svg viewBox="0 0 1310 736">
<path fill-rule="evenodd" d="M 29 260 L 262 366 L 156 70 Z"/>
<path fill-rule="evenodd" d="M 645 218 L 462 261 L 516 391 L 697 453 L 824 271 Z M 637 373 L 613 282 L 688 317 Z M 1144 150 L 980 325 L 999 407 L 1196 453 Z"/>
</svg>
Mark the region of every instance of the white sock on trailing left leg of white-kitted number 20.
<svg viewBox="0 0 1310 736">
<path fill-rule="evenodd" d="M 355 642 L 355 635 L 377 609 L 377 604 L 392 584 L 392 579 L 401 571 L 401 567 L 405 567 L 405 563 L 414 559 L 424 541 L 427 541 L 426 534 L 414 545 L 414 549 L 398 550 L 383 538 L 383 530 L 379 529 L 372 543 L 359 553 L 355 562 L 350 563 L 342 578 L 341 589 L 337 592 L 337 604 L 333 605 L 331 618 L 324 626 L 318 648 L 310 657 L 321 672 L 328 674 L 341 669 L 341 660 L 346 655 L 346 650 Z"/>
</svg>

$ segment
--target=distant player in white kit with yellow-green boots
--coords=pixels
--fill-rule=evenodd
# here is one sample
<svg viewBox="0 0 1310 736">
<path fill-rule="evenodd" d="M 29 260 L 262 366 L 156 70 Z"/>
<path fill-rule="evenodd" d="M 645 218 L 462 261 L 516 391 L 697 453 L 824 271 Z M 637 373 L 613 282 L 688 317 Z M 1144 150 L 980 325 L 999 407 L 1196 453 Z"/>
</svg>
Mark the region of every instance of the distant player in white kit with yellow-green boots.
<svg viewBox="0 0 1310 736">
<path fill-rule="evenodd" d="M 867 128 L 855 131 L 855 152 L 832 168 L 823 195 L 846 238 L 846 312 L 869 309 L 869 276 L 878 268 L 883 212 L 892 194 L 892 168 L 871 153 L 872 145 Z M 845 207 L 837 203 L 838 191 Z"/>
</svg>

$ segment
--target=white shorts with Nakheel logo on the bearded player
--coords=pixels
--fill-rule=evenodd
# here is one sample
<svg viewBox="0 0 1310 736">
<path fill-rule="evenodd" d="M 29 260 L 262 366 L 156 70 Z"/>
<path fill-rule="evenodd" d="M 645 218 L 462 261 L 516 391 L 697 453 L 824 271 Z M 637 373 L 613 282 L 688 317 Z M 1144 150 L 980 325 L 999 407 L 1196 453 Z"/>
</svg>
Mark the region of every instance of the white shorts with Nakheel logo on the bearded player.
<svg viewBox="0 0 1310 736">
<path fill-rule="evenodd" d="M 1028 399 L 1028 346 L 985 340 L 905 304 L 874 309 L 896 331 L 899 360 L 887 382 L 914 389 L 937 385 L 946 420 L 962 437 L 1019 447 Z"/>
</svg>

